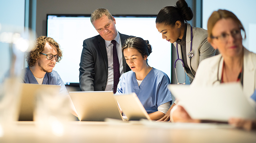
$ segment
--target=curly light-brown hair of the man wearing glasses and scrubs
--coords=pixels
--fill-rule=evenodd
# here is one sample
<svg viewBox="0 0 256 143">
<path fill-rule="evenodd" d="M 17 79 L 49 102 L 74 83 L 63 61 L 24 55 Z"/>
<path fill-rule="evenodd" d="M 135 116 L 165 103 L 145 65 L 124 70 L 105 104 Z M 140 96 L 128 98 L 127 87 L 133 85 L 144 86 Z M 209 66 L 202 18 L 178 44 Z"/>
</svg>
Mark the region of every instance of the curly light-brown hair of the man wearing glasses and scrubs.
<svg viewBox="0 0 256 143">
<path fill-rule="evenodd" d="M 56 47 L 56 52 L 59 55 L 59 58 L 56 60 L 56 62 L 60 62 L 60 60 L 62 59 L 62 51 L 60 50 L 60 45 L 51 37 L 40 36 L 36 39 L 33 49 L 25 55 L 25 58 L 30 67 L 35 65 L 37 59 L 40 58 L 40 52 L 44 50 L 46 43 Z"/>
</svg>

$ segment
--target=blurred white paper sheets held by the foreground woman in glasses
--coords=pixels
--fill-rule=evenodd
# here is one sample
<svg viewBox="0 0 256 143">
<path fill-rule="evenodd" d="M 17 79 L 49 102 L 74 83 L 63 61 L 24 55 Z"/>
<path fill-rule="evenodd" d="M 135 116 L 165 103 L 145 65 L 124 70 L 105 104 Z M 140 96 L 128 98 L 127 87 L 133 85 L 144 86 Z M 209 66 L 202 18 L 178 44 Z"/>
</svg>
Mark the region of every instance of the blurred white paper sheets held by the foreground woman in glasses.
<svg viewBox="0 0 256 143">
<path fill-rule="evenodd" d="M 240 83 L 211 87 L 171 84 L 169 89 L 193 119 L 223 122 L 231 117 L 256 119 L 256 109 L 243 95 Z"/>
</svg>

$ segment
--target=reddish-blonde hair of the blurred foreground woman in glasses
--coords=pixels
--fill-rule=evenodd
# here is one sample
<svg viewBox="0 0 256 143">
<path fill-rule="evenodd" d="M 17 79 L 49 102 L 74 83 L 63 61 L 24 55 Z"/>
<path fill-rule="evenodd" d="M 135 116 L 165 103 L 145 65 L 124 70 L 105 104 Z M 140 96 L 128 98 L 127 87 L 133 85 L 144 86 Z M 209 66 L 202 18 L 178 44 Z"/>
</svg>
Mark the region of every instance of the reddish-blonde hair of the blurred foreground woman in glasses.
<svg viewBox="0 0 256 143">
<path fill-rule="evenodd" d="M 208 19 L 207 23 L 207 28 L 208 28 L 208 39 L 211 38 L 212 36 L 212 28 L 214 25 L 220 20 L 220 19 L 228 19 L 231 18 L 234 20 L 235 23 L 239 25 L 239 27 L 243 30 L 244 32 L 244 39 L 246 38 L 246 33 L 244 30 L 244 27 L 241 23 L 241 21 L 233 14 L 231 11 L 228 10 L 221 10 L 219 9 L 218 11 L 213 11 L 212 15 Z"/>
</svg>

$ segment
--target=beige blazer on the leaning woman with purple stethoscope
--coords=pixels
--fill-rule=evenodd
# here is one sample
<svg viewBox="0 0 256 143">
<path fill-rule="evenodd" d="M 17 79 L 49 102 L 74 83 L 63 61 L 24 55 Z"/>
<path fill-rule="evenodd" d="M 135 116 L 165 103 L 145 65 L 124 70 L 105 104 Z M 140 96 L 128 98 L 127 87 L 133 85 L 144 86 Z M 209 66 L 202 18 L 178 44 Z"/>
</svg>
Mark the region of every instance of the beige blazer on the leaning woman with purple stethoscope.
<svg viewBox="0 0 256 143">
<path fill-rule="evenodd" d="M 212 48 L 211 44 L 207 40 L 207 30 L 203 28 L 192 27 L 193 40 L 192 40 L 192 52 L 194 57 L 189 59 L 187 57 L 187 63 L 190 71 L 185 69 L 185 72 L 189 76 L 190 83 L 193 81 L 196 70 L 199 63 L 205 59 L 212 56 L 215 56 L 216 50 Z M 186 33 L 186 56 L 190 52 L 190 43 L 191 43 L 191 26 L 187 24 L 187 33 Z M 176 42 L 173 43 L 176 47 Z M 182 49 L 181 45 L 178 44 L 179 57 L 182 59 Z M 182 59 L 183 60 L 183 59 Z"/>
</svg>

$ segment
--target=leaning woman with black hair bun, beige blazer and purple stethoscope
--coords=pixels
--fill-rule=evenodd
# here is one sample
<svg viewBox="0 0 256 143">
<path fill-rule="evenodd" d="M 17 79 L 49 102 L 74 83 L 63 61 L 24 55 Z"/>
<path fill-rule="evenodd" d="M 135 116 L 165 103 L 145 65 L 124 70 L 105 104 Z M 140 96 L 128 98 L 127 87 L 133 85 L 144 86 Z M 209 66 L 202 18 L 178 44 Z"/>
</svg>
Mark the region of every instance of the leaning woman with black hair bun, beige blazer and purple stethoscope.
<svg viewBox="0 0 256 143">
<path fill-rule="evenodd" d="M 207 31 L 185 23 L 192 18 L 193 12 L 185 0 L 177 1 L 175 7 L 164 7 L 159 11 L 156 18 L 156 27 L 163 39 L 173 43 L 176 47 L 178 59 L 174 62 L 175 73 L 176 65 L 182 63 L 190 83 L 196 75 L 199 62 L 216 54 L 216 50 L 207 41 Z M 177 78 L 177 82 L 181 85 L 185 84 L 186 77 L 184 82 L 178 81 Z M 168 121 L 169 119 L 170 112 L 168 111 L 160 121 Z"/>
</svg>

